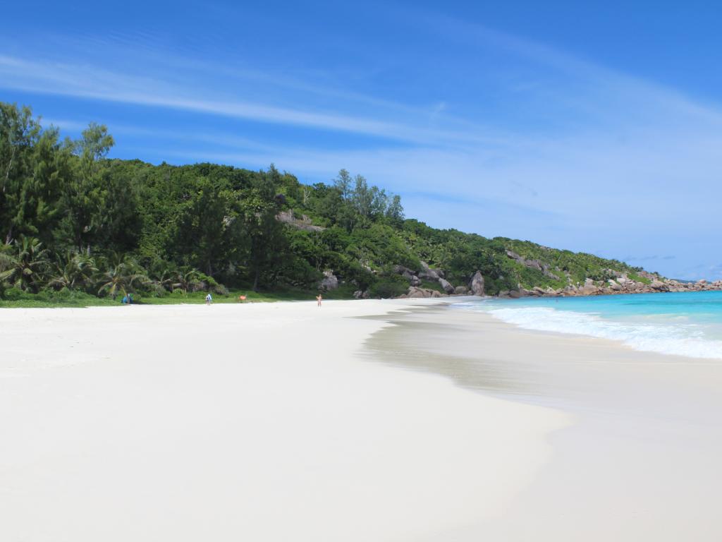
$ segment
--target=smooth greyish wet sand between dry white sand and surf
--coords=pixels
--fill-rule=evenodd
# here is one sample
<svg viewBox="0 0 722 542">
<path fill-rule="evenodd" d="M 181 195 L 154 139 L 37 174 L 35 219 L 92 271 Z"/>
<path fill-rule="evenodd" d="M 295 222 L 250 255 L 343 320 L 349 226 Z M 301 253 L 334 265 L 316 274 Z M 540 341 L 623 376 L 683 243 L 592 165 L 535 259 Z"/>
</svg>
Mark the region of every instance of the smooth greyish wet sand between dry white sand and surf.
<svg viewBox="0 0 722 542">
<path fill-rule="evenodd" d="M 722 538 L 721 362 L 529 332 L 443 307 L 396 324 L 367 342 L 370 358 L 574 421 L 549 436 L 552 459 L 501 515 L 445 540 Z"/>
</svg>

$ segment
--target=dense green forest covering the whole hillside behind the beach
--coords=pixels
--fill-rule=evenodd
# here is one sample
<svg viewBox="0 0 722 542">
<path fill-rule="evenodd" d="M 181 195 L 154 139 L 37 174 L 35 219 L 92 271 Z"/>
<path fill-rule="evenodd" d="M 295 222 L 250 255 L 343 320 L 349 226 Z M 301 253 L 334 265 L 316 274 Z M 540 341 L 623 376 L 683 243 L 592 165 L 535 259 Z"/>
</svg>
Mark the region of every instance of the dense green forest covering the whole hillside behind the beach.
<svg viewBox="0 0 722 542">
<path fill-rule="evenodd" d="M 404 217 L 399 196 L 345 170 L 306 185 L 274 165 L 116 160 L 108 158 L 113 144 L 103 125 L 61 139 L 29 108 L 0 103 L 0 298 L 279 289 L 303 298 L 329 277 L 339 296 L 391 297 L 409 290 L 409 276 L 419 287 L 448 283 L 448 291 L 477 271 L 495 294 L 641 271 L 430 228 Z M 444 280 L 429 269 L 443 270 Z"/>
</svg>

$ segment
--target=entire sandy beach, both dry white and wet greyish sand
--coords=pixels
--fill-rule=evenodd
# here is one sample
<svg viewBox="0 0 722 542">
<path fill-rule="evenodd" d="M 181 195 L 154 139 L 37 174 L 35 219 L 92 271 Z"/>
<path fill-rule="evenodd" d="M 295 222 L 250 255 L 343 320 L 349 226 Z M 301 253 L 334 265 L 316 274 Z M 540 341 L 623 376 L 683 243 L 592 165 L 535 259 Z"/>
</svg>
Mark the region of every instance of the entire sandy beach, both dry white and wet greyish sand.
<svg viewBox="0 0 722 542">
<path fill-rule="evenodd" d="M 0 538 L 719 539 L 718 366 L 443 304 L 0 310 Z"/>
</svg>

